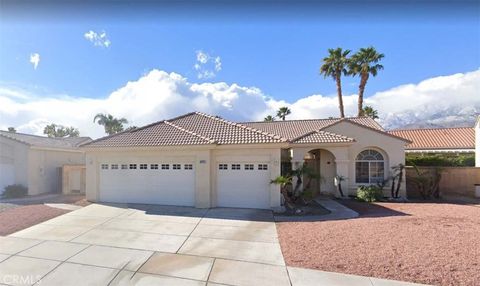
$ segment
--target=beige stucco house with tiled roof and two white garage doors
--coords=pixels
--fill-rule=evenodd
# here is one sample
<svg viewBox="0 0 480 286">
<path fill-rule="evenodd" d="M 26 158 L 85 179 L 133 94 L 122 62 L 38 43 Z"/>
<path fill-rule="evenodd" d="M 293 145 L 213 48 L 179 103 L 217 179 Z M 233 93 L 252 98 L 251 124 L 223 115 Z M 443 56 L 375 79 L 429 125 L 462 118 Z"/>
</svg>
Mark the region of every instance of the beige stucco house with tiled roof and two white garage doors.
<svg viewBox="0 0 480 286">
<path fill-rule="evenodd" d="M 407 143 L 366 117 L 235 123 L 194 112 L 82 149 L 91 201 L 268 209 L 281 204 L 270 181 L 282 162 L 314 167 L 324 193 L 336 193 L 334 177 L 344 176 L 354 194 L 405 163 Z"/>
</svg>

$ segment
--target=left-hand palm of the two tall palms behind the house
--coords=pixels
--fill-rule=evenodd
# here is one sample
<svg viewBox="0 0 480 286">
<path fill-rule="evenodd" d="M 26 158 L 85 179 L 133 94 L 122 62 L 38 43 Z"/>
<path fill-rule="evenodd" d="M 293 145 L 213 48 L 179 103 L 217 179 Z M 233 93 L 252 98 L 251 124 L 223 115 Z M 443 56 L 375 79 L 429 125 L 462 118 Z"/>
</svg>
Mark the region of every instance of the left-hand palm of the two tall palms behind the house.
<svg viewBox="0 0 480 286">
<path fill-rule="evenodd" d="M 347 66 L 349 59 L 347 58 L 350 50 L 342 48 L 328 49 L 328 57 L 323 58 L 323 65 L 320 67 L 320 74 L 324 77 L 332 77 L 337 83 L 338 108 L 340 109 L 340 117 L 345 117 L 343 110 L 342 98 L 342 74 L 347 75 Z"/>
</svg>

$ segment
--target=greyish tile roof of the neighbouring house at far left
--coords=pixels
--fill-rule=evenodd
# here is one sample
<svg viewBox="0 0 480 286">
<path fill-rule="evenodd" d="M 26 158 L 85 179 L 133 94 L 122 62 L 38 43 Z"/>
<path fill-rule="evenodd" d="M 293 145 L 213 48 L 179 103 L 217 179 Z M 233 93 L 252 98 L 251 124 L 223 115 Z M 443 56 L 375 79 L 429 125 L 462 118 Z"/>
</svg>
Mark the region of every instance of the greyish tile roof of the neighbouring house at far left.
<svg viewBox="0 0 480 286">
<path fill-rule="evenodd" d="M 17 132 L 1 131 L 0 136 L 30 145 L 43 148 L 58 148 L 58 149 L 77 149 L 83 143 L 90 142 L 90 137 L 65 137 L 65 138 L 51 138 L 46 136 L 37 136 L 31 134 L 23 134 Z"/>
</svg>

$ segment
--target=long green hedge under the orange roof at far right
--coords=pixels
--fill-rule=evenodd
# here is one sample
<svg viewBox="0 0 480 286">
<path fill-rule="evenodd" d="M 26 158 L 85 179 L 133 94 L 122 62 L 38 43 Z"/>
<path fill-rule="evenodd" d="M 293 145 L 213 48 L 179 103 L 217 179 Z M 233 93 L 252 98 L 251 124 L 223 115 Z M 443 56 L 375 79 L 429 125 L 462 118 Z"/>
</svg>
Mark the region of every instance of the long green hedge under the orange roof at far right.
<svg viewBox="0 0 480 286">
<path fill-rule="evenodd" d="M 473 167 L 475 166 L 475 155 L 463 154 L 453 156 L 450 154 L 407 154 L 406 163 L 407 166 Z"/>
</svg>

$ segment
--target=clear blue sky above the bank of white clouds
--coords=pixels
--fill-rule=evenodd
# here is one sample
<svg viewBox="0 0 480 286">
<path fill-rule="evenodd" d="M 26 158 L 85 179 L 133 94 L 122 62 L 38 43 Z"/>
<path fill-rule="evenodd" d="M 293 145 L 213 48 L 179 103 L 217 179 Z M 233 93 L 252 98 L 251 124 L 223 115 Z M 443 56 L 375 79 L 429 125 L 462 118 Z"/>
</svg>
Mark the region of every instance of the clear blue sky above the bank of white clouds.
<svg viewBox="0 0 480 286">
<path fill-rule="evenodd" d="M 443 6 L 435 1 L 420 6 L 396 2 L 375 9 L 369 8 L 373 4 L 350 7 L 347 2 L 295 6 L 285 1 L 275 9 L 266 4 L 234 9 L 217 2 L 181 9 L 125 3 L 131 9 L 109 9 L 107 4 L 78 9 L 36 9 L 28 2 L 25 7 L 30 9 L 5 5 L 0 84 L 36 97 L 106 98 L 158 69 L 178 73 L 191 84 L 257 87 L 277 101 L 292 103 L 335 93 L 334 82 L 318 74 L 328 48 L 355 51 L 372 45 L 385 54 L 385 70 L 369 81 L 367 97 L 480 67 L 480 9 L 474 1 L 438 1 Z M 89 31 L 104 31 L 111 44 L 94 46 L 84 36 Z M 221 59 L 214 77 L 197 77 L 197 51 Z M 29 62 L 32 53 L 40 56 L 36 69 Z M 358 79 L 346 78 L 345 94 L 356 93 L 357 85 Z"/>
</svg>

